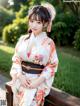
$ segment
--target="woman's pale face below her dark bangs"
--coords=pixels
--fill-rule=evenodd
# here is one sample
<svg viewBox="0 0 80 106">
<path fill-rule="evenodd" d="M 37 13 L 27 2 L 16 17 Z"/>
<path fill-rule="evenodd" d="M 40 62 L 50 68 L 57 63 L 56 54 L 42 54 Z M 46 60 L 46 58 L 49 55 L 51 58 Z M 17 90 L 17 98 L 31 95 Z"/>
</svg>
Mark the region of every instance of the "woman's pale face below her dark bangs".
<svg viewBox="0 0 80 106">
<path fill-rule="evenodd" d="M 29 19 L 29 28 L 32 30 L 34 35 L 38 35 L 42 32 L 43 23 L 39 20 Z"/>
</svg>

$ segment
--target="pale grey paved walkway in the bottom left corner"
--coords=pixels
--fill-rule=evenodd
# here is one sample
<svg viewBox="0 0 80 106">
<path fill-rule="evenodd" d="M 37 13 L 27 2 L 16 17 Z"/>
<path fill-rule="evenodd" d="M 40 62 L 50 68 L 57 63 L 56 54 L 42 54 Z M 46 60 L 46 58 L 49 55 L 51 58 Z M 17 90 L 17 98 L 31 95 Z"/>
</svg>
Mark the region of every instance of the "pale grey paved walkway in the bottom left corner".
<svg viewBox="0 0 80 106">
<path fill-rule="evenodd" d="M 9 79 L 0 74 L 0 106 L 6 106 L 5 83 L 7 81 L 9 81 Z"/>
</svg>

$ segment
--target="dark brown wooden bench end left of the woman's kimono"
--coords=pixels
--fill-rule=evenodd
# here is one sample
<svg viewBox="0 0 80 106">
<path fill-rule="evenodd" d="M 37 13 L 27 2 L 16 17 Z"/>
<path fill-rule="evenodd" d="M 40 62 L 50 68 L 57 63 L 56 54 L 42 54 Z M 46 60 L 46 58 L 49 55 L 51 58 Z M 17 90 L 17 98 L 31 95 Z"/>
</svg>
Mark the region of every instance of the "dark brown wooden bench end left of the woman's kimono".
<svg viewBox="0 0 80 106">
<path fill-rule="evenodd" d="M 6 100 L 7 106 L 13 106 L 13 92 L 10 85 L 5 85 L 6 87 Z"/>
</svg>

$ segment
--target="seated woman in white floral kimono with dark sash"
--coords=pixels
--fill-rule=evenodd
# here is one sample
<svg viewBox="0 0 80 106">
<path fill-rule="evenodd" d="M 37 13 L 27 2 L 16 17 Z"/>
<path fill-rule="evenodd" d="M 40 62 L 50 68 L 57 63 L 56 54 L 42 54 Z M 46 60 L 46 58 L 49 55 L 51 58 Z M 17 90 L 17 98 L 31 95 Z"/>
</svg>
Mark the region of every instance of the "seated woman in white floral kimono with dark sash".
<svg viewBox="0 0 80 106">
<path fill-rule="evenodd" d="M 47 32 L 51 31 L 55 14 L 50 4 L 37 5 L 29 10 L 29 33 L 20 37 L 12 57 L 10 75 L 14 106 L 43 106 L 50 92 L 58 57 L 54 41 Z"/>
</svg>

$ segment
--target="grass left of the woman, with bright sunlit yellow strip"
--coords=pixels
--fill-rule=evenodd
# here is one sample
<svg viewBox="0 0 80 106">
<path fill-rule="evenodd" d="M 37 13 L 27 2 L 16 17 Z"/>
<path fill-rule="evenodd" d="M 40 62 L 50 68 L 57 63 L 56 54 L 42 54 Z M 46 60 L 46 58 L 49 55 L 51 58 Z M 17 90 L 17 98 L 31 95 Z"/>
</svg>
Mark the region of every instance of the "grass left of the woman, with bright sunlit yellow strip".
<svg viewBox="0 0 80 106">
<path fill-rule="evenodd" d="M 0 45 L 0 72 L 8 73 L 12 64 L 13 47 Z"/>
</svg>

